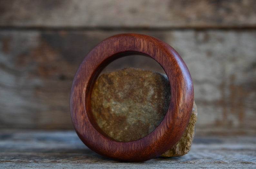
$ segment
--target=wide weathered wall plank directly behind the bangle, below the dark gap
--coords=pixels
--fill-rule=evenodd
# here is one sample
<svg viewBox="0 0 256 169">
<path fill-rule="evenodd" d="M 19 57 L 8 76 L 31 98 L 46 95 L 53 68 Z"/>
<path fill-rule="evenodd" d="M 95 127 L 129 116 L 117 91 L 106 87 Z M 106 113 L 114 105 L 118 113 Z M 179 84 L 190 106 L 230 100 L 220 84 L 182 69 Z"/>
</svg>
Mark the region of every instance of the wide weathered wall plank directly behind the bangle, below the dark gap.
<svg viewBox="0 0 256 169">
<path fill-rule="evenodd" d="M 169 43 L 194 82 L 197 132 L 255 134 L 256 31 L 135 31 Z M 123 31 L 0 31 L 0 127 L 72 129 L 69 93 L 97 43 Z M 162 71 L 143 57 L 120 67 Z"/>
</svg>

